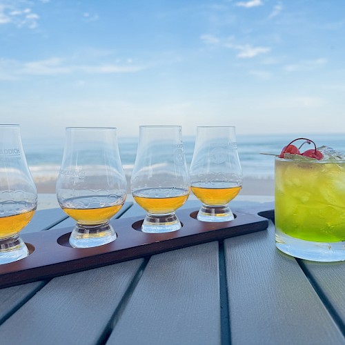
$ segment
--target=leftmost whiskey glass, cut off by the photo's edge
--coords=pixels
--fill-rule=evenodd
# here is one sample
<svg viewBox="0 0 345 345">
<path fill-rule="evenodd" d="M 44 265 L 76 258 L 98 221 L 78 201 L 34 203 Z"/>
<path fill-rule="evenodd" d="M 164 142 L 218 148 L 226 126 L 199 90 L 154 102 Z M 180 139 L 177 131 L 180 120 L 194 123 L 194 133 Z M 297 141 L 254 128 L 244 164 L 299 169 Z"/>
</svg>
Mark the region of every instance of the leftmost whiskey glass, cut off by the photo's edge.
<svg viewBox="0 0 345 345">
<path fill-rule="evenodd" d="M 0 125 L 0 264 L 29 255 L 19 233 L 37 208 L 34 185 L 19 125 Z"/>
</svg>

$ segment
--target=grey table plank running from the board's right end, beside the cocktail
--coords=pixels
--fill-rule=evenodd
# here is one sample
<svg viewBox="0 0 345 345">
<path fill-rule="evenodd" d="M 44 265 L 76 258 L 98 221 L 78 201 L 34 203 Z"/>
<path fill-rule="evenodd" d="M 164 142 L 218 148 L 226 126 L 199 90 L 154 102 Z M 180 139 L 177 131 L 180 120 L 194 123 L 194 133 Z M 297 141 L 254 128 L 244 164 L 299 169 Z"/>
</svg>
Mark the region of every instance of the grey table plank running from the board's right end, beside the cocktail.
<svg viewBox="0 0 345 345">
<path fill-rule="evenodd" d="M 232 344 L 344 344 L 293 257 L 268 231 L 224 241 Z"/>
</svg>

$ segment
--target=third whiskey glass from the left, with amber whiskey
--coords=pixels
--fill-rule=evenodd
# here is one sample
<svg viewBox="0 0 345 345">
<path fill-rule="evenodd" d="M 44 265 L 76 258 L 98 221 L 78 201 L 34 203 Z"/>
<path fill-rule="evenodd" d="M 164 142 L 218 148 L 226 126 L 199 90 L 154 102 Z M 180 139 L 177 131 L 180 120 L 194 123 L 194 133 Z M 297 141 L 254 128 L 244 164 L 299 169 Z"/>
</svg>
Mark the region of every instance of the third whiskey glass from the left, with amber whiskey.
<svg viewBox="0 0 345 345">
<path fill-rule="evenodd" d="M 168 233 L 181 228 L 175 211 L 190 193 L 181 126 L 139 127 L 130 184 L 135 201 L 147 212 L 141 231 Z"/>
</svg>

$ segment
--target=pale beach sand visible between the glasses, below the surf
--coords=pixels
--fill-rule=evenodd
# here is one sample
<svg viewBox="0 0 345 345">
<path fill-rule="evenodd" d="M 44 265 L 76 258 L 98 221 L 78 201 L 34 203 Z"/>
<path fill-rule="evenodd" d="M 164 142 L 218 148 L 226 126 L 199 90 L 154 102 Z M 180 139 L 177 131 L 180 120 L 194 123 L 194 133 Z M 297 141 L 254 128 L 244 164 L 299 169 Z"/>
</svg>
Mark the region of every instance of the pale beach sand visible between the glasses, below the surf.
<svg viewBox="0 0 345 345">
<path fill-rule="evenodd" d="M 39 193 L 37 210 L 59 208 L 55 194 L 56 181 L 54 179 L 41 181 L 34 178 L 34 182 L 37 186 L 37 193 Z M 274 190 L 274 179 L 244 178 L 243 187 L 237 199 L 247 201 L 255 201 L 256 199 L 264 201 L 266 199 L 266 201 L 271 201 L 273 200 Z M 263 196 L 266 196 L 266 198 L 263 198 Z M 193 197 L 194 195 L 190 195 L 190 198 Z M 130 192 L 128 193 L 127 201 L 133 201 Z"/>
</svg>

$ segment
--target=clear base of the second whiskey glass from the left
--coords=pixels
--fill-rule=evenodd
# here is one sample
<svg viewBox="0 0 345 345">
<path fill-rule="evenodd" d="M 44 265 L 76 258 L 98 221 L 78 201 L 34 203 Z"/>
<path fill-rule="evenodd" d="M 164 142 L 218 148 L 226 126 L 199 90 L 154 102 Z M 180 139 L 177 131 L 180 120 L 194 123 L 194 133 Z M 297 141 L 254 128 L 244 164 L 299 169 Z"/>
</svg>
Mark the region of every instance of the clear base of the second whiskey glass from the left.
<svg viewBox="0 0 345 345">
<path fill-rule="evenodd" d="M 70 234 L 70 245 L 73 248 L 91 248 L 103 246 L 117 239 L 117 235 L 108 223 L 97 226 L 77 224 Z"/>
</svg>

